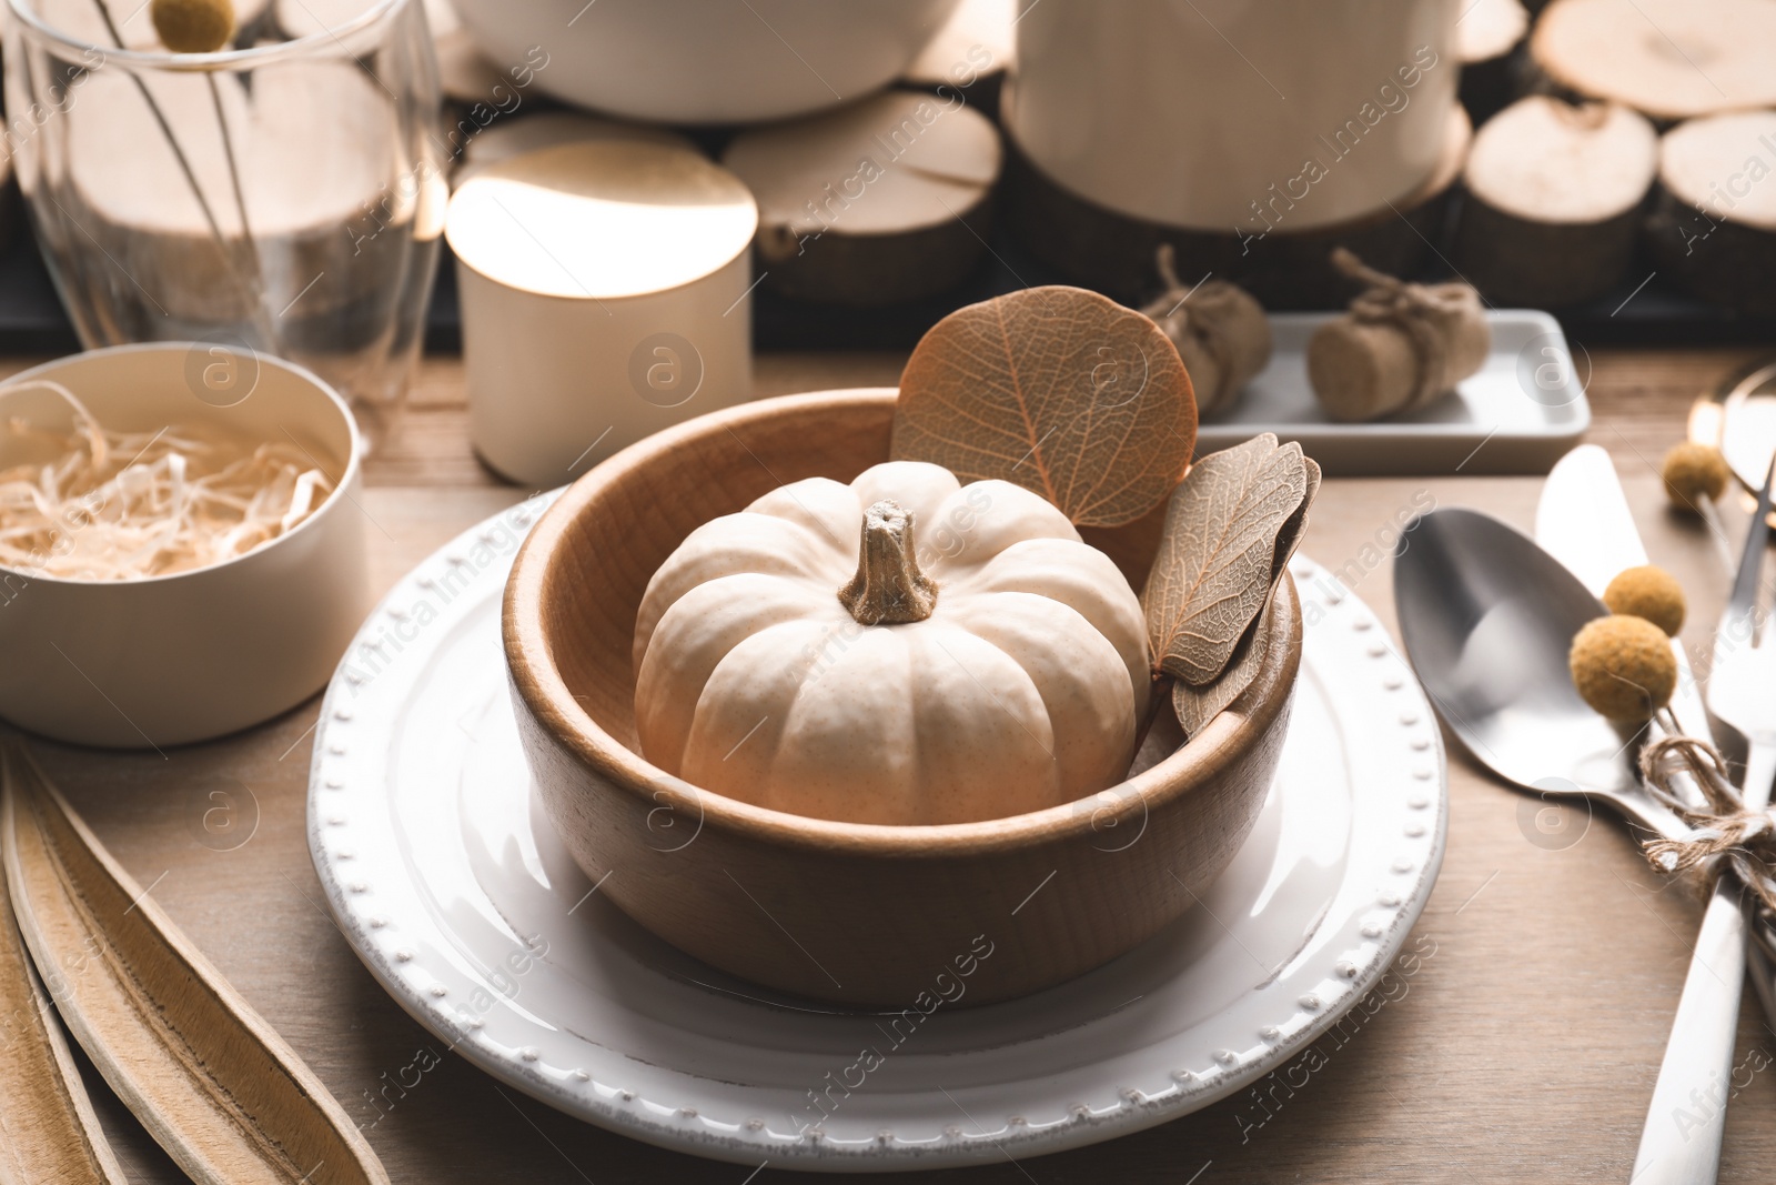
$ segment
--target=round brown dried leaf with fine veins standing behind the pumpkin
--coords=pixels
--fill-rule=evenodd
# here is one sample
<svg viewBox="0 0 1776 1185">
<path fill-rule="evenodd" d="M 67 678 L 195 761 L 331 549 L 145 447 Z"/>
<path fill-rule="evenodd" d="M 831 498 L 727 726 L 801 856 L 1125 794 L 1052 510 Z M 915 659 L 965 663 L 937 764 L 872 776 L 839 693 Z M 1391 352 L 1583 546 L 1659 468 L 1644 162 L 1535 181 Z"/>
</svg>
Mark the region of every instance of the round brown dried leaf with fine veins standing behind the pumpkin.
<svg viewBox="0 0 1776 1185">
<path fill-rule="evenodd" d="M 1016 481 L 1080 526 L 1121 526 L 1165 501 L 1195 439 L 1195 394 L 1165 332 L 1053 286 L 971 304 L 925 334 L 900 375 L 892 451 L 963 481 Z"/>
</svg>

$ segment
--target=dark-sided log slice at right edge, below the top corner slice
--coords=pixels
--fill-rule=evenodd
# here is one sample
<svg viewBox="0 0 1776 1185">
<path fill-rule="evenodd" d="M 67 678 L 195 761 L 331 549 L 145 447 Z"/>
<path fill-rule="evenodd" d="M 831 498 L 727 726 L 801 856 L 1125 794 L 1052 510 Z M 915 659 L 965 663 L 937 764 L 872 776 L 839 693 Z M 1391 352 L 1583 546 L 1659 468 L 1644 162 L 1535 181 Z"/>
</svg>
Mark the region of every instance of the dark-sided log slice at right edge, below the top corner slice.
<svg viewBox="0 0 1776 1185">
<path fill-rule="evenodd" d="M 1646 222 L 1661 274 L 1714 304 L 1776 313 L 1776 112 L 1678 124 L 1659 140 Z"/>
</svg>

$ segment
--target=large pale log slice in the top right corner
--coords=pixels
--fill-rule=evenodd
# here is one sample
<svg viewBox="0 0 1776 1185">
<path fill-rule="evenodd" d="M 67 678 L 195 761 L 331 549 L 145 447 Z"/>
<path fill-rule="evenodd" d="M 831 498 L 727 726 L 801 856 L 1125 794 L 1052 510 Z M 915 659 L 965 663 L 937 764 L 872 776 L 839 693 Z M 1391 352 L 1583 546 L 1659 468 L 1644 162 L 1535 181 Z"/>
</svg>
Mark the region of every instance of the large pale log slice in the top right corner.
<svg viewBox="0 0 1776 1185">
<path fill-rule="evenodd" d="M 1657 119 L 1776 105 L 1769 0 L 1554 0 L 1529 55 L 1556 85 Z"/>
</svg>

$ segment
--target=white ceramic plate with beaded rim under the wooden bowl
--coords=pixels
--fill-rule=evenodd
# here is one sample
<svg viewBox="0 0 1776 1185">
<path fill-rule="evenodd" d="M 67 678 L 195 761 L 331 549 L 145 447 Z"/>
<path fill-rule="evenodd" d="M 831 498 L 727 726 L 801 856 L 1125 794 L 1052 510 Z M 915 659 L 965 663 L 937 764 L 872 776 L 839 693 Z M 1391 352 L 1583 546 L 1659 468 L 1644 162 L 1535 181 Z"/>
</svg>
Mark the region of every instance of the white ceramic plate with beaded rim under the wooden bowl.
<svg viewBox="0 0 1776 1185">
<path fill-rule="evenodd" d="M 364 625 L 321 709 L 309 847 L 387 991 L 568 1114 L 801 1169 L 1110 1139 L 1305 1048 L 1380 981 L 1430 895 L 1446 828 L 1437 725 L 1368 606 L 1296 560 L 1309 624 L 1282 767 L 1199 910 L 1073 982 L 916 1023 L 735 981 L 597 894 L 531 796 L 499 593 L 547 499 L 462 535 Z M 657 824 L 662 847 L 696 842 L 694 819 Z M 865 1048 L 879 1054 L 867 1071 Z M 817 1093 L 835 1100 L 824 1117 Z"/>
</svg>

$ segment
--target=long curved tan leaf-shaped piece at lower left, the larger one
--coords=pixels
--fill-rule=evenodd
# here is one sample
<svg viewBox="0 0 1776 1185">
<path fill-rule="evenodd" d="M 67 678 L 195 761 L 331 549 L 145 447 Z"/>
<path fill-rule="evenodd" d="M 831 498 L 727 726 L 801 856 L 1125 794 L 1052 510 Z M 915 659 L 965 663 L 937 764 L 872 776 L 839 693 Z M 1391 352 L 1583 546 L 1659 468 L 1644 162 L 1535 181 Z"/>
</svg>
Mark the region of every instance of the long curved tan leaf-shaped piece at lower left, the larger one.
<svg viewBox="0 0 1776 1185">
<path fill-rule="evenodd" d="M 320 1078 L 9 744 L 12 910 L 67 1029 L 199 1185 L 387 1185 Z"/>
</svg>

